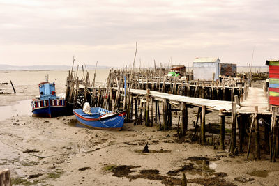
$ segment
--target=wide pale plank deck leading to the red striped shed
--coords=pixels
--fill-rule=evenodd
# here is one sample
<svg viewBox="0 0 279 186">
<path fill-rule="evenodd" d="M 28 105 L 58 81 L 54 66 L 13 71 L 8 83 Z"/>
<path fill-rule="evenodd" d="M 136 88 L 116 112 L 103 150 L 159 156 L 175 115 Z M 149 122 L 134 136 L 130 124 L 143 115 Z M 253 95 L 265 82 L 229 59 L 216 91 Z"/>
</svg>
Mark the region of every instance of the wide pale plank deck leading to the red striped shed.
<svg viewBox="0 0 279 186">
<path fill-rule="evenodd" d="M 248 90 L 248 97 L 241 102 L 241 108 L 237 109 L 238 114 L 253 114 L 255 106 L 258 107 L 258 114 L 269 115 L 271 111 L 268 110 L 268 96 L 264 94 L 263 88 L 250 87 Z"/>
</svg>

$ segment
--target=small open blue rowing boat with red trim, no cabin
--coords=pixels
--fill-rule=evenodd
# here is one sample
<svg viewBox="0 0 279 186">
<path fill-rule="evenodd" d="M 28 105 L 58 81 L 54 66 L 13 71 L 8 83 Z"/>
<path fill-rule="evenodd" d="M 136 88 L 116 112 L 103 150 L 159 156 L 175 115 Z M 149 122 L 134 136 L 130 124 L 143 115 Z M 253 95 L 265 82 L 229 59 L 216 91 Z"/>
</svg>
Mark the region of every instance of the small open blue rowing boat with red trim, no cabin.
<svg viewBox="0 0 279 186">
<path fill-rule="evenodd" d="M 85 114 L 82 109 L 74 109 L 73 113 L 81 125 L 100 130 L 121 130 L 126 111 L 112 112 L 100 107 L 90 109 L 91 114 Z"/>
</svg>

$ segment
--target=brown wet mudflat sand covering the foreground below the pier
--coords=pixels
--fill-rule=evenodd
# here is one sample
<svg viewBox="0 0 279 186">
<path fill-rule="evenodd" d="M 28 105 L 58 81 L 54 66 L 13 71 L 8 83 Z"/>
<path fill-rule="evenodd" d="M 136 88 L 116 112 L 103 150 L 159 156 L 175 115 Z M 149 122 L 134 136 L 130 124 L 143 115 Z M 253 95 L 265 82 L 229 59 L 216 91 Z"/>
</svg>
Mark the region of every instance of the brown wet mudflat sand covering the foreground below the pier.
<svg viewBox="0 0 279 186">
<path fill-rule="evenodd" d="M 19 100 L 26 96 L 30 95 L 17 94 Z M 188 110 L 192 127 L 197 108 Z M 218 123 L 218 112 L 206 114 L 209 122 Z M 76 123 L 75 116 L 32 118 L 26 114 L 2 120 L 0 169 L 10 169 L 15 185 L 180 185 L 183 173 L 188 185 L 279 183 L 278 163 L 265 160 L 264 155 L 263 160 L 250 161 L 244 155 L 229 157 L 227 150 L 192 143 L 193 130 L 177 140 L 175 128 L 163 132 L 157 125 L 126 123 L 121 131 L 102 131 Z M 149 153 L 141 153 L 146 144 Z M 228 149 L 228 140 L 225 145 Z"/>
</svg>

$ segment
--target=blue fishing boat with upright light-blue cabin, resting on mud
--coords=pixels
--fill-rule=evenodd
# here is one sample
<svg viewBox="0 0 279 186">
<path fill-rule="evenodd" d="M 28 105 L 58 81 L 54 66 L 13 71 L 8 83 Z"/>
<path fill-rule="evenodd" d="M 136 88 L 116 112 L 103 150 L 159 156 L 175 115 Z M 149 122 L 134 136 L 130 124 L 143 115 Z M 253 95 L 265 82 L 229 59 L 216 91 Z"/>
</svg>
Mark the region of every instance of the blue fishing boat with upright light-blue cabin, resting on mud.
<svg viewBox="0 0 279 186">
<path fill-rule="evenodd" d="M 55 84 L 42 82 L 38 84 L 40 97 L 31 102 L 34 117 L 55 117 L 66 113 L 66 100 L 56 96 Z"/>
</svg>

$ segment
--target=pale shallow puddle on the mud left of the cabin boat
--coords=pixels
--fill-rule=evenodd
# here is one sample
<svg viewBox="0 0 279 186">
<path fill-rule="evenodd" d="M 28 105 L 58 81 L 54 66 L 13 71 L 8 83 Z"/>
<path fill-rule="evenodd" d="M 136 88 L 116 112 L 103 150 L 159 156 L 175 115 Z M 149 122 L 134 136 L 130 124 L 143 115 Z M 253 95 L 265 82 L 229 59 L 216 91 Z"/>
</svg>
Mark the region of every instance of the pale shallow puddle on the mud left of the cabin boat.
<svg viewBox="0 0 279 186">
<path fill-rule="evenodd" d="M 13 105 L 0 107 L 0 121 L 12 116 L 32 115 L 31 100 L 17 101 Z"/>
</svg>

